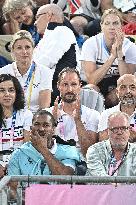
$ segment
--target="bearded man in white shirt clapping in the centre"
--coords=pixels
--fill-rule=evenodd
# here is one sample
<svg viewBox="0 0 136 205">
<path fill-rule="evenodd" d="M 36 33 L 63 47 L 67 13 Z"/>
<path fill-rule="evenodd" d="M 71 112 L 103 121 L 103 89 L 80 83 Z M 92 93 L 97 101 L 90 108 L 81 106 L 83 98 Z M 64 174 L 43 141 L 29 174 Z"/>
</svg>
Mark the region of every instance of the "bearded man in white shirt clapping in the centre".
<svg viewBox="0 0 136 205">
<path fill-rule="evenodd" d="M 80 76 L 73 68 L 64 68 L 58 77 L 61 103 L 56 99 L 54 106 L 48 108 L 56 119 L 56 134 L 63 140 L 75 140 L 82 155 L 91 144 L 97 142 L 99 112 L 80 103 Z"/>
</svg>

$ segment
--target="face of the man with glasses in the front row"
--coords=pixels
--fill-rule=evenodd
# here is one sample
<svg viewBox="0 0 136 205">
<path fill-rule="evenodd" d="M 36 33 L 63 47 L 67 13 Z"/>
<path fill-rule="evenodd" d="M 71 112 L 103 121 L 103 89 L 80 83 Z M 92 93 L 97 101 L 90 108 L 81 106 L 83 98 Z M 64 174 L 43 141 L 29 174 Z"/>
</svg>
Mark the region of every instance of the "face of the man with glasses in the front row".
<svg viewBox="0 0 136 205">
<path fill-rule="evenodd" d="M 129 123 L 124 116 L 116 116 L 109 122 L 109 139 L 113 149 L 124 149 L 130 136 Z"/>
</svg>

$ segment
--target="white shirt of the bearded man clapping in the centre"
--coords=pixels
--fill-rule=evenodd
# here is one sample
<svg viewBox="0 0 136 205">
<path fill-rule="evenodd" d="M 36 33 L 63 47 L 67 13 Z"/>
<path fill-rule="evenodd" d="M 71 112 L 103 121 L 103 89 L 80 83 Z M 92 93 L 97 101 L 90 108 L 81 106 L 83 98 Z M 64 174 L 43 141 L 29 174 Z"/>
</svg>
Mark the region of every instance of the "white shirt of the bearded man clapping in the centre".
<svg viewBox="0 0 136 205">
<path fill-rule="evenodd" d="M 53 107 L 46 110 L 52 112 Z M 81 106 L 81 120 L 86 130 L 97 132 L 100 113 L 96 110 Z M 56 128 L 56 135 L 67 141 L 74 139 L 78 142 L 78 135 L 74 118 L 60 109 L 60 117 Z"/>
</svg>

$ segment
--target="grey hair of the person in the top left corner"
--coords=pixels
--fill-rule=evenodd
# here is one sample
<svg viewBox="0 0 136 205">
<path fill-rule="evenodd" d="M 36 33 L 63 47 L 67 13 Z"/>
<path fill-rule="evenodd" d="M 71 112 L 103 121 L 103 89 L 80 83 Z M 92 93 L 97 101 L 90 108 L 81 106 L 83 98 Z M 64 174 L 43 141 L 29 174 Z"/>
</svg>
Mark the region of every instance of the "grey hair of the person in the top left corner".
<svg viewBox="0 0 136 205">
<path fill-rule="evenodd" d="M 8 20 L 10 13 L 22 9 L 23 7 L 26 6 L 35 8 L 36 3 L 33 2 L 33 0 L 5 0 L 2 7 L 3 16 L 6 20 Z"/>
</svg>

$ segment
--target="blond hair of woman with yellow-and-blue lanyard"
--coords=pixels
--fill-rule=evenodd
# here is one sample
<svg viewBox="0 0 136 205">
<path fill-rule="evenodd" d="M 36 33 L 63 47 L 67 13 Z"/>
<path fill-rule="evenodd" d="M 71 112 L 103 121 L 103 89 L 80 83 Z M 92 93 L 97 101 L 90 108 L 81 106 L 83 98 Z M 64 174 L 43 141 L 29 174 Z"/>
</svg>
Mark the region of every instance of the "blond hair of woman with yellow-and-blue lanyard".
<svg viewBox="0 0 136 205">
<path fill-rule="evenodd" d="M 29 40 L 30 43 L 32 44 L 32 46 L 34 47 L 34 41 L 33 41 L 33 38 L 32 38 L 32 35 L 30 34 L 30 32 L 26 31 L 26 30 L 20 30 L 13 35 L 12 41 L 10 43 L 11 49 L 14 49 L 15 42 L 17 40 L 21 40 L 21 39 Z"/>
</svg>

